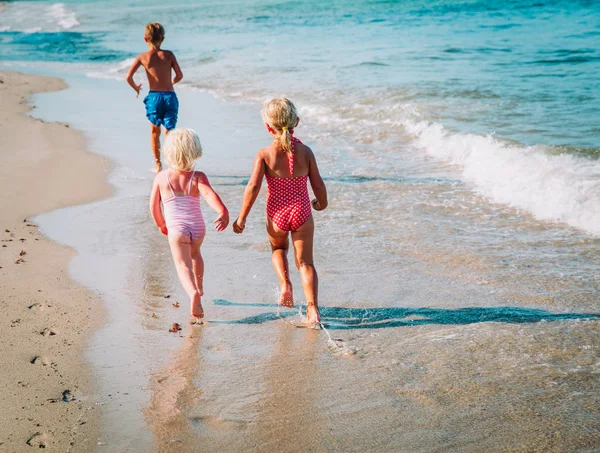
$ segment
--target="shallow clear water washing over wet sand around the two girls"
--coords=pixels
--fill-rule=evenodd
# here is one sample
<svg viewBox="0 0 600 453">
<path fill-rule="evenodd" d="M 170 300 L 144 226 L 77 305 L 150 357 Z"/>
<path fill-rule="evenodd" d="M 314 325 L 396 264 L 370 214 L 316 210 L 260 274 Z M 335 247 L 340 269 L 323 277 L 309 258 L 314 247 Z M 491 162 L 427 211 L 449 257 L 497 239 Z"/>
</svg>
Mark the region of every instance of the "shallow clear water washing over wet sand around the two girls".
<svg viewBox="0 0 600 453">
<path fill-rule="evenodd" d="M 119 101 L 127 91 L 110 80 L 69 83 L 37 96 L 35 114 L 89 131 L 91 149 L 116 161 L 117 193 L 37 220 L 80 252 L 71 274 L 109 310 L 89 352 L 101 442 L 115 451 L 598 448 L 597 238 L 490 205 L 427 159 L 407 160 L 403 175 L 332 175 L 331 209 L 315 213 L 327 332 L 295 327 L 297 312 L 275 305 L 263 196 L 244 235 L 209 228 L 208 322 L 192 328 L 147 213 L 139 104 Z M 199 168 L 235 215 L 267 140 L 258 106 L 185 90 L 180 99 L 182 126 L 193 118 L 202 137 Z M 123 102 L 124 120 L 112 121 L 111 100 Z M 97 107 L 82 116 L 86 105 Z M 220 133 L 225 121 L 234 133 Z M 328 174 L 334 156 L 318 156 Z"/>
</svg>

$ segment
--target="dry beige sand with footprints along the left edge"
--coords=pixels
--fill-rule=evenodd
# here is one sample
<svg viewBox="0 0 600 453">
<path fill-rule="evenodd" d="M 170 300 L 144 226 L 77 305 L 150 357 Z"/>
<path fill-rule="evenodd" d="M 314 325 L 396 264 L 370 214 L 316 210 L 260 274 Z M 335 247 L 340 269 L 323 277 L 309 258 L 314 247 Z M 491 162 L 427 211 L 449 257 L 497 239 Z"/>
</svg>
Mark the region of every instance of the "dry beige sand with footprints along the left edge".
<svg viewBox="0 0 600 453">
<path fill-rule="evenodd" d="M 102 322 L 98 296 L 67 275 L 73 250 L 29 216 L 106 197 L 110 164 L 83 135 L 27 116 L 27 98 L 55 78 L 0 72 L 0 451 L 89 451 L 99 414 L 84 354 Z"/>
</svg>

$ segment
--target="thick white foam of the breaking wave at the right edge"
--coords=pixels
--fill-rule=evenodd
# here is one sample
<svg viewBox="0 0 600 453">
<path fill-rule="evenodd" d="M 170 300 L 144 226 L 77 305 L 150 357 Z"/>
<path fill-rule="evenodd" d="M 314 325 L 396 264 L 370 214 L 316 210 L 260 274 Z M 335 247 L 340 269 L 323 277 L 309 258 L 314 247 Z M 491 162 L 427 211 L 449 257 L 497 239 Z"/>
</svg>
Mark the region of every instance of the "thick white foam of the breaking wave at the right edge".
<svg viewBox="0 0 600 453">
<path fill-rule="evenodd" d="M 600 235 L 600 161 L 454 133 L 438 123 L 403 125 L 414 146 L 457 165 L 463 178 L 492 201 Z"/>
</svg>

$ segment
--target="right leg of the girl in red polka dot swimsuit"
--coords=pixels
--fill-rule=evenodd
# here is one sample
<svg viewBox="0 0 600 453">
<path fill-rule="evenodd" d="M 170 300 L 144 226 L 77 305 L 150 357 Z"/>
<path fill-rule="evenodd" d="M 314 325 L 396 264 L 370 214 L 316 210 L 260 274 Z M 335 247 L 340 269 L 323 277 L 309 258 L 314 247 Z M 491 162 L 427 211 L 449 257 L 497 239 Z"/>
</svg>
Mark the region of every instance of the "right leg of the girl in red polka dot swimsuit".
<svg viewBox="0 0 600 453">
<path fill-rule="evenodd" d="M 292 232 L 296 266 L 298 266 L 298 270 L 300 271 L 300 278 L 304 287 L 304 297 L 306 297 L 306 320 L 310 324 L 321 322 L 318 304 L 319 278 L 313 264 L 314 233 L 315 223 L 312 215 L 304 225 Z"/>
</svg>

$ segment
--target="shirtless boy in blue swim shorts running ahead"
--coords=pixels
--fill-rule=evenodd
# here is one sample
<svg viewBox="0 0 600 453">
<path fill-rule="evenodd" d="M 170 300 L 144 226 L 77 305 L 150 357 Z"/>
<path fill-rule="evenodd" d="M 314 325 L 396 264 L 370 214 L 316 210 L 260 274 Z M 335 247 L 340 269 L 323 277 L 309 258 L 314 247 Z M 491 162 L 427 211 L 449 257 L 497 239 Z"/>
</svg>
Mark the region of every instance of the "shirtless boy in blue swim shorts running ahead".
<svg viewBox="0 0 600 453">
<path fill-rule="evenodd" d="M 141 66 L 146 70 L 150 92 L 144 99 L 146 105 L 146 118 L 150 121 L 150 144 L 154 154 L 156 172 L 162 170 L 160 162 L 160 126 L 163 125 L 168 134 L 177 125 L 177 112 L 179 101 L 173 85 L 183 78 L 179 64 L 173 52 L 160 48 L 165 39 L 165 29 L 158 22 L 146 25 L 144 41 L 148 43 L 148 52 L 138 55 L 127 73 L 127 83 L 139 96 L 142 84 L 136 85 L 133 75 Z M 175 78 L 171 80 L 171 70 L 175 71 Z"/>
</svg>

